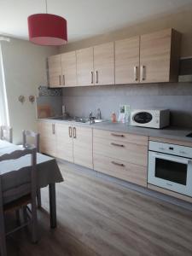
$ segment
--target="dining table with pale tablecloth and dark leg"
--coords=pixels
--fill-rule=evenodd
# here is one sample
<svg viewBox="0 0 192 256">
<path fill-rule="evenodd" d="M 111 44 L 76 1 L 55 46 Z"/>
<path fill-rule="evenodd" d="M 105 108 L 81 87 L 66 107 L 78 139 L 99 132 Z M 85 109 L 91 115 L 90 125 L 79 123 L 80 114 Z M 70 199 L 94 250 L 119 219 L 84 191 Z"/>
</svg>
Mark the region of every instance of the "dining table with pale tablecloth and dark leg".
<svg viewBox="0 0 192 256">
<path fill-rule="evenodd" d="M 15 150 L 20 150 L 20 145 L 15 145 L 0 140 L 0 156 L 10 154 Z M 30 166 L 31 156 L 27 154 L 18 160 L 7 160 L 0 163 L 0 175 L 3 191 L 13 189 L 15 186 L 25 184 L 28 180 L 29 172 L 26 166 Z M 18 172 L 17 172 L 18 171 Z M 64 179 L 55 158 L 45 154 L 37 153 L 37 187 L 42 189 L 49 186 L 49 219 L 50 228 L 56 228 L 56 195 L 55 183 L 61 183 Z M 9 194 L 8 194 L 9 195 Z M 14 201 L 22 195 L 11 195 L 3 198 L 3 203 Z"/>
</svg>

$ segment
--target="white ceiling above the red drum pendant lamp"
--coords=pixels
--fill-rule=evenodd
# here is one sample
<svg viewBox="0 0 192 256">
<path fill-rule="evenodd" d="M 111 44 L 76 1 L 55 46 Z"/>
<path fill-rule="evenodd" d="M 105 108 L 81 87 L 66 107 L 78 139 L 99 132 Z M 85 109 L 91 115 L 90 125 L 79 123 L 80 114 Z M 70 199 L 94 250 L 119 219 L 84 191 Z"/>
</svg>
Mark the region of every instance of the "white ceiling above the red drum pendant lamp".
<svg viewBox="0 0 192 256">
<path fill-rule="evenodd" d="M 69 42 L 150 17 L 187 9 L 192 0 L 47 0 L 48 12 L 67 19 Z M 27 16 L 45 12 L 45 0 L 0 0 L 0 34 L 27 39 Z"/>
</svg>

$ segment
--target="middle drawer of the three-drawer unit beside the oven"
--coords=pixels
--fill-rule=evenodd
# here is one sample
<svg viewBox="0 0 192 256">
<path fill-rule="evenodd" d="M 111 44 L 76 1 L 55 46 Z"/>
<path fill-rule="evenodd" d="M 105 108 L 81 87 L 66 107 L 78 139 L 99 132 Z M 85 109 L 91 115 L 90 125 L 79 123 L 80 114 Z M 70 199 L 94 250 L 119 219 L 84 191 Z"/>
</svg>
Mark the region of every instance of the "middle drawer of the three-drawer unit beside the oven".
<svg viewBox="0 0 192 256">
<path fill-rule="evenodd" d="M 138 166 L 147 166 L 148 163 L 147 146 L 106 140 L 102 137 L 93 138 L 93 153 L 125 160 Z"/>
</svg>

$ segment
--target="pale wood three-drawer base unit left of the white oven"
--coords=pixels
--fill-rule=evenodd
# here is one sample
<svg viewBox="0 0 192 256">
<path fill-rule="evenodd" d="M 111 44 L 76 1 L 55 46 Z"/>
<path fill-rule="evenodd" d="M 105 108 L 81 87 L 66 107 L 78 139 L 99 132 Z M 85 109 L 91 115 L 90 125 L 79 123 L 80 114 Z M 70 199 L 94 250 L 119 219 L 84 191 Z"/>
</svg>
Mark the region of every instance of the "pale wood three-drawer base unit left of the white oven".
<svg viewBox="0 0 192 256">
<path fill-rule="evenodd" d="M 94 170 L 147 187 L 148 137 L 93 130 Z"/>
</svg>

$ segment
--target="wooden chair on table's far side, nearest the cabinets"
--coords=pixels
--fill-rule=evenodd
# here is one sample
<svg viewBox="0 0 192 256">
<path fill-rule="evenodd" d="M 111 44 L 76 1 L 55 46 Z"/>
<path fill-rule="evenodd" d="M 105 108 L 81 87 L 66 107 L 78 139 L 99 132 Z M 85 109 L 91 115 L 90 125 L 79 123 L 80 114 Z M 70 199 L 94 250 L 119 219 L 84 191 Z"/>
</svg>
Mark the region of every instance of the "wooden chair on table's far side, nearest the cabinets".
<svg viewBox="0 0 192 256">
<path fill-rule="evenodd" d="M 23 130 L 22 136 L 23 136 L 23 144 L 22 144 L 23 148 L 35 147 L 37 149 L 37 152 L 39 153 L 39 138 L 40 138 L 39 133 L 34 131 Z M 28 137 L 31 137 L 33 139 L 34 144 L 27 143 Z M 38 208 L 40 208 L 41 207 L 41 189 L 38 189 L 37 200 L 38 200 Z"/>
</svg>

